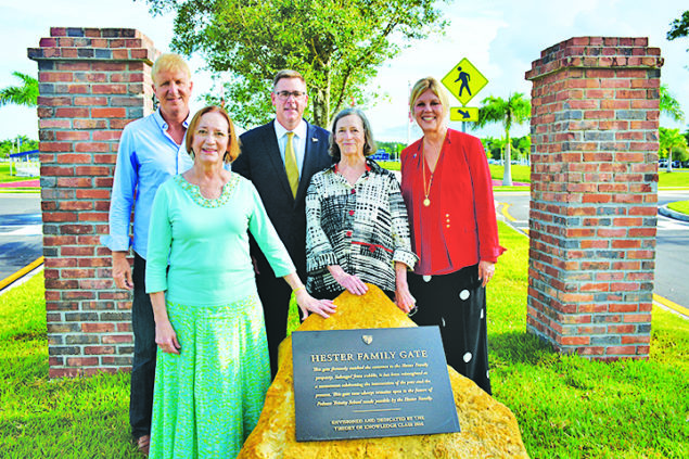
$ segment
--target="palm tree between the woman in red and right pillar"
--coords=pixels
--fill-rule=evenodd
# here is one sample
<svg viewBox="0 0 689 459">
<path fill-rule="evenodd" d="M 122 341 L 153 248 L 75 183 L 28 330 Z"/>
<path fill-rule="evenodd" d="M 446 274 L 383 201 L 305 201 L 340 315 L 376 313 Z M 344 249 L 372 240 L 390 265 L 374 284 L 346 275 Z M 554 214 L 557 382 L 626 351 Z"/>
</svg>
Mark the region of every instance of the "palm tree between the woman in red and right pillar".
<svg viewBox="0 0 689 459">
<path fill-rule="evenodd" d="M 512 184 L 512 149 L 510 140 L 510 129 L 512 124 L 521 125 L 531 116 L 531 102 L 524 99 L 524 94 L 515 92 L 510 94 L 508 100 L 495 98 L 493 95 L 481 101 L 479 109 L 479 122 L 472 125 L 472 129 L 484 127 L 488 123 L 502 123 L 505 127 L 505 174 L 502 184 Z"/>
</svg>

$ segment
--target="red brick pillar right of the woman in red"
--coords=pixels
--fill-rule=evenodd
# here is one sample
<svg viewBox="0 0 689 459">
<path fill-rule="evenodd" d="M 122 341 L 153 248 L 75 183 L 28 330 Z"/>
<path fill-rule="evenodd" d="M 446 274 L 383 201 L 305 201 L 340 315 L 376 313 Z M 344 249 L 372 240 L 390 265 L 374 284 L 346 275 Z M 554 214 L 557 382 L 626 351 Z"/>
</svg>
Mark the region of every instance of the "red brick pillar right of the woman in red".
<svg viewBox="0 0 689 459">
<path fill-rule="evenodd" d="M 647 38 L 577 37 L 526 73 L 526 327 L 561 353 L 649 355 L 662 65 Z"/>
</svg>

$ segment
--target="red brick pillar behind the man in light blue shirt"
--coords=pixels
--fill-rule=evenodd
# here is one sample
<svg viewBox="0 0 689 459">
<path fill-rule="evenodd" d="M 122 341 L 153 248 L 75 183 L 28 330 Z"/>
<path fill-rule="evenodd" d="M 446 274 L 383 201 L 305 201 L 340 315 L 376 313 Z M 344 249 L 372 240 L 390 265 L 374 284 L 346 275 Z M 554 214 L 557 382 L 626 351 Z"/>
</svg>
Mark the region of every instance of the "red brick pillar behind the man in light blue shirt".
<svg viewBox="0 0 689 459">
<path fill-rule="evenodd" d="M 107 212 L 122 129 L 153 110 L 158 52 L 135 29 L 53 27 L 38 63 L 50 377 L 131 365 L 130 294 L 116 290 Z"/>
</svg>

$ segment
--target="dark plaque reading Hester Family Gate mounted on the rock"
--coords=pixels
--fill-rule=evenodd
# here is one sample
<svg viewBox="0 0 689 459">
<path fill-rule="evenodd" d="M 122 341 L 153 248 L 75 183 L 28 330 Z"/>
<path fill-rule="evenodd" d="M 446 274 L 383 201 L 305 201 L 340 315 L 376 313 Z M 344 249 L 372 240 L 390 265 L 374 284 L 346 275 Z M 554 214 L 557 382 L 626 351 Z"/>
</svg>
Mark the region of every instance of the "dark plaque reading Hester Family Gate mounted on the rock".
<svg viewBox="0 0 689 459">
<path fill-rule="evenodd" d="M 297 442 L 459 432 L 437 327 L 292 333 Z"/>
</svg>

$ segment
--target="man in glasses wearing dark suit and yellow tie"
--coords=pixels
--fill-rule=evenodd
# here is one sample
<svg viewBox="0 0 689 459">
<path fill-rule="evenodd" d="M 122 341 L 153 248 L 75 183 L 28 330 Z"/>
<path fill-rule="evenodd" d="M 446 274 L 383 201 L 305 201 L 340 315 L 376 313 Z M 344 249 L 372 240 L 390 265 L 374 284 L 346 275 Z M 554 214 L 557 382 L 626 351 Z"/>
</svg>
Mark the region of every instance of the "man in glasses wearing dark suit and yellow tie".
<svg viewBox="0 0 689 459">
<path fill-rule="evenodd" d="M 264 202 L 296 266 L 306 280 L 306 215 L 304 199 L 311 176 L 332 164 L 328 154 L 329 132 L 303 119 L 308 103 L 306 81 L 295 71 L 280 71 L 273 79 L 270 100 L 276 118 L 240 137 L 242 154 L 232 170 L 251 180 Z M 252 241 L 256 262 L 256 286 L 264 305 L 270 371 L 278 372 L 278 345 L 286 335 L 292 291 L 276 278 L 263 253 Z"/>
</svg>

